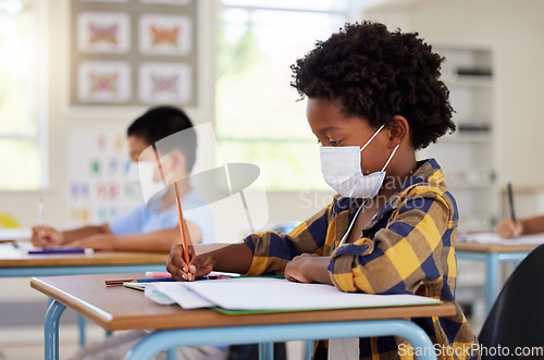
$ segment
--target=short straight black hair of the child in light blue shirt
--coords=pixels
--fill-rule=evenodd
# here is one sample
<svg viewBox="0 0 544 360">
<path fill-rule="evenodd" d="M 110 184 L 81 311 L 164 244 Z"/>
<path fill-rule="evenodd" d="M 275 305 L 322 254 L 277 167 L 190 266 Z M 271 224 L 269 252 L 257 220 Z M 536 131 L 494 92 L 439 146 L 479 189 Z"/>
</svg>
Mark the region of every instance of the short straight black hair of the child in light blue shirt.
<svg viewBox="0 0 544 360">
<path fill-rule="evenodd" d="M 182 131 L 185 131 L 182 144 L 165 141 L 170 148 L 161 147 L 161 150 L 171 151 L 174 148 L 181 150 L 187 162 L 187 172 L 190 172 L 196 161 L 197 136 L 193 123 L 183 110 L 170 105 L 151 108 L 128 126 L 126 136 L 140 137 L 147 144 L 153 145 Z"/>
</svg>

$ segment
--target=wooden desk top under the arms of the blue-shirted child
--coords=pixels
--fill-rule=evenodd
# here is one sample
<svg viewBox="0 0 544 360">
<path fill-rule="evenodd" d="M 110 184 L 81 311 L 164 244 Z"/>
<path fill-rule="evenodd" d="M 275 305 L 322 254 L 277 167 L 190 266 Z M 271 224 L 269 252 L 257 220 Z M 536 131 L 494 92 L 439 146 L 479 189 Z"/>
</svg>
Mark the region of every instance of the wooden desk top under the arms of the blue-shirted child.
<svg viewBox="0 0 544 360">
<path fill-rule="evenodd" d="M 0 258 L 0 268 L 51 268 L 51 266 L 100 266 L 165 264 L 168 253 L 149 252 L 100 252 L 91 255 L 25 255 L 18 259 Z"/>
</svg>

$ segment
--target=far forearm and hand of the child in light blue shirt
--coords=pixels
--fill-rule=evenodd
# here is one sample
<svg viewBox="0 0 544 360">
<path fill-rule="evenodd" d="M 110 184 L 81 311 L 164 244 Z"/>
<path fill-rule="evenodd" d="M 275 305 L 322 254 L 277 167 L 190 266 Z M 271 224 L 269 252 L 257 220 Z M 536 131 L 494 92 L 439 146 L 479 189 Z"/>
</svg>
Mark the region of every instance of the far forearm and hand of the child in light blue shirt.
<svg viewBox="0 0 544 360">
<path fill-rule="evenodd" d="M 30 240 L 35 246 L 58 246 L 98 234 L 111 234 L 108 224 L 87 225 L 64 232 L 50 226 L 34 226 Z"/>
</svg>

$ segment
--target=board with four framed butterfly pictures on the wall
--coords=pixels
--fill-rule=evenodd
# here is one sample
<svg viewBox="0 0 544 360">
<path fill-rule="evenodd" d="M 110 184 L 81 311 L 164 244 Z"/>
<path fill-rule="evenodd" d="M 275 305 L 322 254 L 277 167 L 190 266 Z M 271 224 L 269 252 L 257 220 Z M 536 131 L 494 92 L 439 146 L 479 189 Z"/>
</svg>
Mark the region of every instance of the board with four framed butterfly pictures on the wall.
<svg viewBox="0 0 544 360">
<path fill-rule="evenodd" d="M 197 0 L 70 0 L 70 104 L 197 107 Z"/>
</svg>

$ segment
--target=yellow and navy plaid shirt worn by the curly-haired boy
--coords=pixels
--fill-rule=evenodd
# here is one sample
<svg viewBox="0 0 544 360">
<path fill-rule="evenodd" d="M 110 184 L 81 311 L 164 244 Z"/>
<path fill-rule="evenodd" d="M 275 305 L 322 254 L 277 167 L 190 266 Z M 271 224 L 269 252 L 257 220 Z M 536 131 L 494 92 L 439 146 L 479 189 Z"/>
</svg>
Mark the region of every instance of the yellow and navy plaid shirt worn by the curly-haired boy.
<svg viewBox="0 0 544 360">
<path fill-rule="evenodd" d="M 343 291 L 416 294 L 455 301 L 458 212 L 436 161 L 418 163 L 412 176 L 364 226 L 360 239 L 338 247 L 360 203 L 336 196 L 289 234 L 248 235 L 245 241 L 254 251 L 248 275 L 283 274 L 294 257 L 317 253 L 331 257 L 331 278 Z M 440 348 L 441 359 L 479 358 L 469 351 L 477 339 L 459 307 L 454 316 L 412 321 Z M 400 358 L 400 344 L 406 347 L 404 339 L 393 336 L 361 338 L 360 357 Z M 320 342 L 314 358 L 325 357 L 326 342 Z"/>
</svg>

